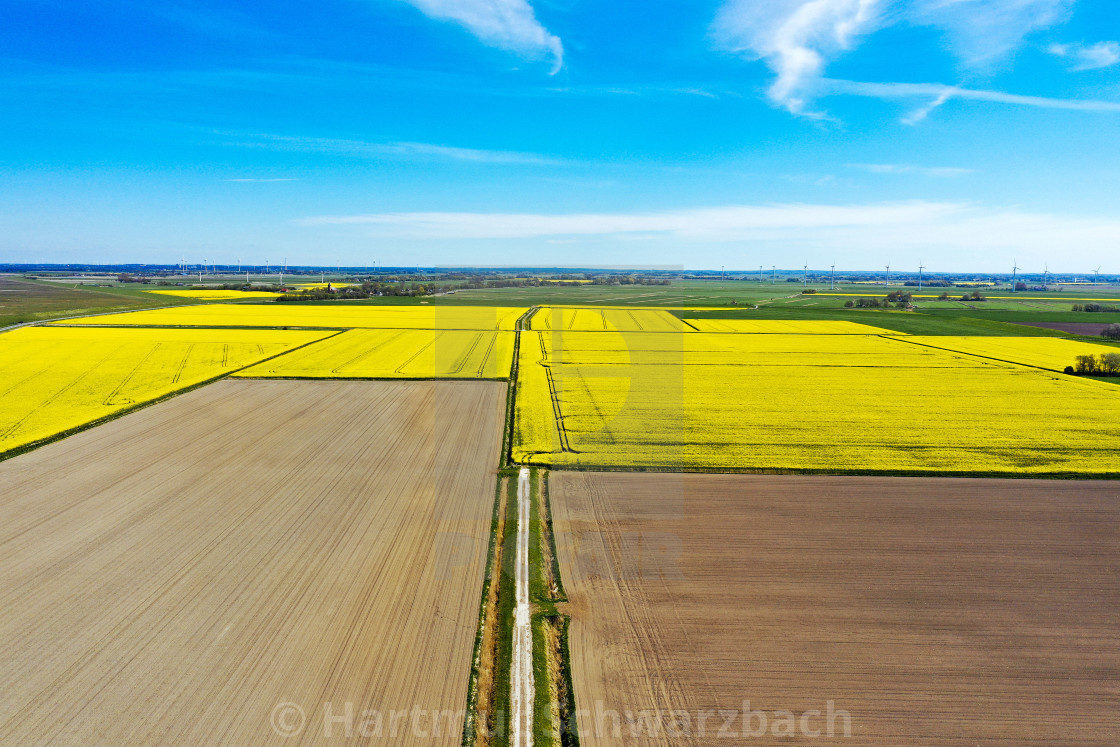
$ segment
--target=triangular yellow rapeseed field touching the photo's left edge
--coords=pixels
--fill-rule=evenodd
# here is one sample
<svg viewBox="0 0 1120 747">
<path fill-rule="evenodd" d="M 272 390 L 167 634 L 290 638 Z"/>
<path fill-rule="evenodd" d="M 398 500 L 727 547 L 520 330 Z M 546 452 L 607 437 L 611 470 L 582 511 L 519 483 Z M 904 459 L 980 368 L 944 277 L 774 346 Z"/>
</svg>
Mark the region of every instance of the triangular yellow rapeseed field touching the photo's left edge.
<svg viewBox="0 0 1120 747">
<path fill-rule="evenodd" d="M 0 452 L 330 333 L 25 327 L 0 335 Z"/>
</svg>

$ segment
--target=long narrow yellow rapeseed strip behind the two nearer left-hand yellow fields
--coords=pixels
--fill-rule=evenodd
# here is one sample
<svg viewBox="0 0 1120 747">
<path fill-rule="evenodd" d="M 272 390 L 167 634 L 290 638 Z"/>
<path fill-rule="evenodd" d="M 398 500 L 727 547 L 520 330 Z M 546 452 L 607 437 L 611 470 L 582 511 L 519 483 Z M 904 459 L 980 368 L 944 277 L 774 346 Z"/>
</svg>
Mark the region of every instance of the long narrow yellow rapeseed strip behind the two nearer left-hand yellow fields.
<svg viewBox="0 0 1120 747">
<path fill-rule="evenodd" d="M 507 329 L 523 308 L 484 306 L 354 306 L 307 302 L 205 304 L 83 317 L 67 325 L 165 327 L 316 327 L 328 329 Z"/>
</svg>

